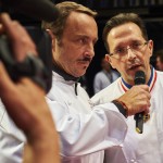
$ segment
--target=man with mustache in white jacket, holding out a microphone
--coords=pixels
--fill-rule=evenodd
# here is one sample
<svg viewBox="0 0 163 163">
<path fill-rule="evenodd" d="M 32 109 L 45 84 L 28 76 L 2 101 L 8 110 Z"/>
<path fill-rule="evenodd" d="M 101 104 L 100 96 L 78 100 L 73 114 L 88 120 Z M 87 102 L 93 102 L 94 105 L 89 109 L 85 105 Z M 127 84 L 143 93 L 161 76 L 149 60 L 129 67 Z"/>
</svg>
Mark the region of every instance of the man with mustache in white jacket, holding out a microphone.
<svg viewBox="0 0 163 163">
<path fill-rule="evenodd" d="M 118 146 L 125 137 L 124 117 L 142 110 L 148 112 L 148 86 L 134 87 L 120 97 L 118 101 L 126 106 L 121 102 L 115 103 L 117 108 L 113 102 L 91 105 L 77 80 L 95 55 L 97 13 L 75 2 L 55 7 L 61 16 L 52 23 L 43 22 L 42 26 L 52 38 L 53 77 L 47 101 L 60 135 L 62 162 L 102 163 L 104 149 Z M 145 95 L 141 102 L 139 93 Z"/>
</svg>

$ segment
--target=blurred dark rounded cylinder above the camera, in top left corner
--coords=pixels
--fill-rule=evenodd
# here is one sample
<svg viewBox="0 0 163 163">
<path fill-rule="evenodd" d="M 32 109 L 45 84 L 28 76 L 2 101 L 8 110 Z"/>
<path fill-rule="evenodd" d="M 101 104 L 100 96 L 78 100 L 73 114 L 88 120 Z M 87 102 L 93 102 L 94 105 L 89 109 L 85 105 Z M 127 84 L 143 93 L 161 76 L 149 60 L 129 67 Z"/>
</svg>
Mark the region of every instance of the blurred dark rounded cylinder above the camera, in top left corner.
<svg viewBox="0 0 163 163">
<path fill-rule="evenodd" d="M 50 0 L 0 0 L 4 7 L 15 9 L 40 21 L 52 22 L 60 15 Z"/>
</svg>

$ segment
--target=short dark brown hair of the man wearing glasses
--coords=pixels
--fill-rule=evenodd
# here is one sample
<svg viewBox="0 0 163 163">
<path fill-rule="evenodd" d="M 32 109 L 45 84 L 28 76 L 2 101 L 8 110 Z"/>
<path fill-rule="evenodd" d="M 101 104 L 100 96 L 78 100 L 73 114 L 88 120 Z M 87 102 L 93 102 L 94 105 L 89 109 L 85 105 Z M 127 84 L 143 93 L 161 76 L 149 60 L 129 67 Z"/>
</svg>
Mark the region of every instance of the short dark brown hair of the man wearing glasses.
<svg viewBox="0 0 163 163">
<path fill-rule="evenodd" d="M 136 14 L 136 13 L 120 13 L 120 14 L 111 17 L 106 22 L 106 24 L 105 24 L 105 26 L 103 28 L 102 38 L 103 38 L 103 42 L 104 42 L 104 46 L 105 46 L 108 52 L 110 52 L 110 49 L 109 49 L 109 45 L 106 42 L 106 37 L 108 37 L 110 30 L 112 28 L 114 28 L 114 27 L 117 27 L 117 26 L 126 24 L 126 23 L 135 23 L 136 25 L 138 25 L 140 30 L 141 30 L 141 33 L 142 33 L 142 37 L 146 40 L 148 40 L 148 35 L 147 35 L 145 23 L 139 17 L 138 14 Z"/>
</svg>

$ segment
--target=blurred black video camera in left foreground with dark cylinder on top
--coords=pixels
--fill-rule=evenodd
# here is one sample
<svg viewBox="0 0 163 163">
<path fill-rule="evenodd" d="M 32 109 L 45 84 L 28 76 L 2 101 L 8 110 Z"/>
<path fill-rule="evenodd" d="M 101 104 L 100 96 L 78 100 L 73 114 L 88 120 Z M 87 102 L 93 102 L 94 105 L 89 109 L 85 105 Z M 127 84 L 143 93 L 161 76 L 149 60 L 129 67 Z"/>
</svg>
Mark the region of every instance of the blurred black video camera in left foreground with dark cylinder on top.
<svg viewBox="0 0 163 163">
<path fill-rule="evenodd" d="M 59 11 L 49 0 L 0 0 L 2 7 L 9 11 L 21 11 L 25 16 L 37 20 L 54 21 Z M 9 12 L 10 14 L 10 12 Z M 0 60 L 4 63 L 10 77 L 16 82 L 22 76 L 30 77 L 39 84 L 47 92 L 51 88 L 52 80 L 52 48 L 51 38 L 47 32 L 35 25 L 24 26 L 37 46 L 39 59 L 27 55 L 26 60 L 18 63 L 12 57 L 12 50 L 8 37 L 0 36 Z"/>
</svg>

